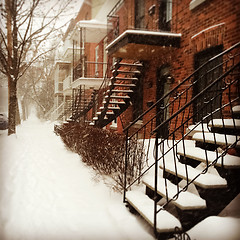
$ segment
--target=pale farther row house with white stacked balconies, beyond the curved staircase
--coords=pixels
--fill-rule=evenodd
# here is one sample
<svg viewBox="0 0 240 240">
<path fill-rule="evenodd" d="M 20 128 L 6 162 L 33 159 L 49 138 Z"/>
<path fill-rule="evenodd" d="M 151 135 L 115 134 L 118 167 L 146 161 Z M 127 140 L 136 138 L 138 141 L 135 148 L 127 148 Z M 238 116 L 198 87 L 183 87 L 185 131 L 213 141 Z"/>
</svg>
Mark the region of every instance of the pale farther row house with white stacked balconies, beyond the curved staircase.
<svg viewBox="0 0 240 240">
<path fill-rule="evenodd" d="M 51 72 L 55 82 L 52 119 L 86 120 L 79 113 L 88 107 L 103 82 L 107 69 L 106 19 L 116 2 L 85 0 L 71 20 Z M 89 116 L 91 119 L 92 114 Z"/>
</svg>

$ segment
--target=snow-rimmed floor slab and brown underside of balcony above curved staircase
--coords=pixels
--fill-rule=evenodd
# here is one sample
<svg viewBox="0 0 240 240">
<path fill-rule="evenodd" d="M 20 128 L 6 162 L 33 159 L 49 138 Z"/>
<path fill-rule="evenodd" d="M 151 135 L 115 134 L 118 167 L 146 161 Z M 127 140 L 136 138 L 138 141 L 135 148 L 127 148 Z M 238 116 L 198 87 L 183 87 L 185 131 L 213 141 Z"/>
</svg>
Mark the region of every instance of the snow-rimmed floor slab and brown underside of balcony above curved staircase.
<svg viewBox="0 0 240 240">
<path fill-rule="evenodd" d="M 109 55 L 151 60 L 179 47 L 181 34 L 147 30 L 126 30 L 108 46 Z"/>
</svg>

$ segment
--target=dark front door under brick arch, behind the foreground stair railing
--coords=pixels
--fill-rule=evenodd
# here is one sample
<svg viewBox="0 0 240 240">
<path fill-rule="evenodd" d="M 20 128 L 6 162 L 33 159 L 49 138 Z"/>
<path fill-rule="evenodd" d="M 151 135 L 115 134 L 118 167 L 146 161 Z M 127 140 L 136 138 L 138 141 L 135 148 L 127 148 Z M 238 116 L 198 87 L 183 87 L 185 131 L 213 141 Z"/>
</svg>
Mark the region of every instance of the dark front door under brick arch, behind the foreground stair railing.
<svg viewBox="0 0 240 240">
<path fill-rule="evenodd" d="M 207 62 L 210 58 L 216 56 L 222 52 L 222 46 L 212 47 L 205 51 L 202 51 L 195 55 L 195 69 L 198 69 L 202 64 Z M 222 74 L 222 58 L 216 58 L 210 64 L 207 64 L 196 76 L 198 79 L 194 85 L 193 96 L 201 93 L 206 87 L 209 86 L 214 80 L 216 80 Z M 193 104 L 194 123 L 201 121 L 203 117 L 210 115 L 214 110 L 220 107 L 221 104 L 221 86 L 216 84 L 210 89 L 201 94 Z M 214 118 L 219 116 L 219 112 L 216 112 Z M 206 118 L 205 122 L 208 122 L 209 118 Z"/>
</svg>

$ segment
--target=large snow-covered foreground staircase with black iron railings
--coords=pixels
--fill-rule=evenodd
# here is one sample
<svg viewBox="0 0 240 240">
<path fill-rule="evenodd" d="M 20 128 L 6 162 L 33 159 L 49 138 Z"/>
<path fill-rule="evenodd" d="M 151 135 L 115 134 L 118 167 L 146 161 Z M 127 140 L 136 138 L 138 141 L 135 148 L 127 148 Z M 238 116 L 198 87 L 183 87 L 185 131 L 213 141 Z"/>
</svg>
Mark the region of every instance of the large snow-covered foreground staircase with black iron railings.
<svg viewBox="0 0 240 240">
<path fill-rule="evenodd" d="M 195 93 L 198 82 L 209 78 Z M 124 202 L 157 238 L 218 215 L 240 193 L 239 105 L 240 43 L 208 60 L 125 129 Z M 136 128 L 146 115 L 149 120 Z M 128 146 L 136 140 L 144 145 L 146 167 L 129 180 Z"/>
</svg>

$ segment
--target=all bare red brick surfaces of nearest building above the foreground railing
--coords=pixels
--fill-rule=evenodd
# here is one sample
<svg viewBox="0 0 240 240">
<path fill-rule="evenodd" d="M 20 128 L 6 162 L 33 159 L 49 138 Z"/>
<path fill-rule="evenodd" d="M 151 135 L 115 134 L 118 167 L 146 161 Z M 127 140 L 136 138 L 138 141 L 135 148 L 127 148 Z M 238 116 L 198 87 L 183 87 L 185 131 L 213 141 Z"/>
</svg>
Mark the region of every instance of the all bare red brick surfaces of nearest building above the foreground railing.
<svg viewBox="0 0 240 240">
<path fill-rule="evenodd" d="M 179 84 L 194 71 L 194 54 L 204 49 L 223 45 L 224 50 L 240 41 L 240 2 L 239 0 L 206 0 L 193 10 L 189 9 L 191 0 L 173 0 L 172 32 L 181 33 L 180 48 L 174 49 L 174 56 L 169 57 L 171 73 Z M 148 9 L 156 5 L 155 14 L 148 15 Z M 157 0 L 146 1 L 145 23 L 148 29 L 158 27 Z M 127 11 L 127 14 L 126 14 Z M 134 0 L 126 0 L 118 11 L 120 33 L 134 27 Z M 149 101 L 156 100 L 156 70 L 161 62 L 154 59 L 147 62 L 144 78 L 144 110 Z M 131 111 L 131 110 L 129 110 Z M 129 111 L 124 115 L 129 118 Z M 150 116 L 146 116 L 147 121 Z"/>
</svg>

